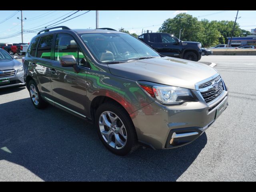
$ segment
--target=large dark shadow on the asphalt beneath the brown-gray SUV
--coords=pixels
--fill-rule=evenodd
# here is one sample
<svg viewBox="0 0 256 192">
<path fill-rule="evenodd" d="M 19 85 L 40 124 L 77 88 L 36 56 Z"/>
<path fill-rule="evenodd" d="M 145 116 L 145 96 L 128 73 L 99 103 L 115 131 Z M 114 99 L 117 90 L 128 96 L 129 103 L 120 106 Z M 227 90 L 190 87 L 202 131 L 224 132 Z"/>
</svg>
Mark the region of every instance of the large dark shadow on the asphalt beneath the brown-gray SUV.
<svg viewBox="0 0 256 192">
<path fill-rule="evenodd" d="M 91 124 L 54 106 L 37 110 L 25 98 L 0 109 L 0 160 L 45 181 L 175 181 L 207 143 L 204 133 L 181 148 L 139 148 L 121 157 L 102 145 Z M 12 174 L 20 180 L 17 172 Z"/>
</svg>

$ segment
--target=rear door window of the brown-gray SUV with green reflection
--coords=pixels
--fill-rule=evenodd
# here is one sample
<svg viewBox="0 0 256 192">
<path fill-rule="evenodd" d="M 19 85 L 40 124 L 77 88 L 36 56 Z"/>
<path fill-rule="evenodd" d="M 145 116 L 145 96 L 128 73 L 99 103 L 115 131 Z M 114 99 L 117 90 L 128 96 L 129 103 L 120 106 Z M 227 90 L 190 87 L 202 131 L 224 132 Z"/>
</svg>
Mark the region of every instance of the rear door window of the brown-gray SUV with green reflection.
<svg viewBox="0 0 256 192">
<path fill-rule="evenodd" d="M 51 59 L 51 47 L 52 47 L 53 35 L 43 36 L 40 39 L 37 48 L 37 57 L 44 59 Z"/>
</svg>

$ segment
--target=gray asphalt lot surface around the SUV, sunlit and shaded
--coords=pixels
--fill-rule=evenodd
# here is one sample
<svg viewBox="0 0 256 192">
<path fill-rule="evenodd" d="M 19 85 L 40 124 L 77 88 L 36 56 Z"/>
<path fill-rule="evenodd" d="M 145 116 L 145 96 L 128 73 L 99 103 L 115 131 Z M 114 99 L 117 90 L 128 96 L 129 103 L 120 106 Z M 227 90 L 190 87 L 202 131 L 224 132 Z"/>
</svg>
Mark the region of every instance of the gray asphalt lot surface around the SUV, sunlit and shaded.
<svg viewBox="0 0 256 192">
<path fill-rule="evenodd" d="M 217 64 L 228 108 L 191 144 L 125 157 L 84 120 L 35 109 L 25 87 L 0 89 L 0 181 L 256 181 L 256 56 L 200 61 Z"/>
</svg>

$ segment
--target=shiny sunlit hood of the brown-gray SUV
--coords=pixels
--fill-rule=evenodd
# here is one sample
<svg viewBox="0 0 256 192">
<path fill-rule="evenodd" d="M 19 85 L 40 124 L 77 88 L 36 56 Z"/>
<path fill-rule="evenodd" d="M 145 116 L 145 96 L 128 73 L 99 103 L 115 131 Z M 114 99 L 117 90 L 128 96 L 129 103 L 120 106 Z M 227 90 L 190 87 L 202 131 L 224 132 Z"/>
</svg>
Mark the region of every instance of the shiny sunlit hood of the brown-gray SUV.
<svg viewBox="0 0 256 192">
<path fill-rule="evenodd" d="M 115 76 L 189 89 L 195 89 L 196 83 L 217 73 L 206 64 L 172 57 L 108 64 L 108 67 Z"/>
</svg>

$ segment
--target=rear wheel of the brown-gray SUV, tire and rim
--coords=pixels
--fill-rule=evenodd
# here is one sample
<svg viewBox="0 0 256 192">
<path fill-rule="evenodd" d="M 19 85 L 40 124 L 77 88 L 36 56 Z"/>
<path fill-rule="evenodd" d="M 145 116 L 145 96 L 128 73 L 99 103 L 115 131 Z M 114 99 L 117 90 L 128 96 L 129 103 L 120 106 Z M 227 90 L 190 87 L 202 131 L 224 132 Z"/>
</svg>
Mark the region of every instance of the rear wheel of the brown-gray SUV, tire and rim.
<svg viewBox="0 0 256 192">
<path fill-rule="evenodd" d="M 32 101 L 32 104 L 34 105 L 35 108 L 37 108 L 37 109 L 46 108 L 48 103 L 46 103 L 42 99 L 40 92 L 37 88 L 36 82 L 34 80 L 30 80 L 30 82 L 28 84 L 28 91 L 30 94 L 30 99 Z"/>
</svg>

